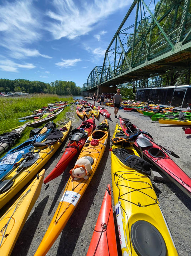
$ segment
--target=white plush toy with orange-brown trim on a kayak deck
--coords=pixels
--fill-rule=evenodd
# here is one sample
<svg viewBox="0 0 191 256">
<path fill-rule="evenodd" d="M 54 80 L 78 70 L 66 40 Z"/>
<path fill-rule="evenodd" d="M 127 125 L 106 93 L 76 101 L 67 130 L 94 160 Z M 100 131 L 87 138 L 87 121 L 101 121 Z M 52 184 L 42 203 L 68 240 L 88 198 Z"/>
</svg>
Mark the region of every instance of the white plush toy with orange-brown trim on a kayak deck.
<svg viewBox="0 0 191 256">
<path fill-rule="evenodd" d="M 88 179 L 87 173 L 92 169 L 90 161 L 85 158 L 81 157 L 78 159 L 75 163 L 75 166 L 72 170 L 70 170 L 70 174 L 72 176 L 72 179 L 78 180 L 78 179 Z"/>
</svg>

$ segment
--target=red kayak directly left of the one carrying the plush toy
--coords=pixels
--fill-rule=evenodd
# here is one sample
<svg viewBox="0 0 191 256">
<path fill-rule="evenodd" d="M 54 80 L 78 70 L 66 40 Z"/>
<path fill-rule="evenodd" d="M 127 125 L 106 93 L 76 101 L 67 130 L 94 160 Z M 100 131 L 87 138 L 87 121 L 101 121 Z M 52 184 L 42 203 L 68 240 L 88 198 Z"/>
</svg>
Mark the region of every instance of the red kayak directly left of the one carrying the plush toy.
<svg viewBox="0 0 191 256">
<path fill-rule="evenodd" d="M 91 116 L 77 129 L 72 130 L 70 135 L 70 142 L 68 143 L 65 152 L 63 153 L 56 167 L 54 167 L 51 173 L 44 179 L 44 184 L 57 178 L 59 175 L 62 174 L 63 171 L 65 171 L 72 158 L 77 154 L 77 152 L 81 151 L 87 137 L 92 133 L 94 129 L 95 118 L 94 116 Z"/>
</svg>

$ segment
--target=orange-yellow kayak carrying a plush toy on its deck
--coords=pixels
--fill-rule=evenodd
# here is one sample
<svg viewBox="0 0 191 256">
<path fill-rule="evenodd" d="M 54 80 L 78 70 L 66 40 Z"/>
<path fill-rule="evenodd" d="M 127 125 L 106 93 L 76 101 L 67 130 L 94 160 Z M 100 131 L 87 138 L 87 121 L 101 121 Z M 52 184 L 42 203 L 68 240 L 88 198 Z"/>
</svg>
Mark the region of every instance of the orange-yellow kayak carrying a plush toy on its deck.
<svg viewBox="0 0 191 256">
<path fill-rule="evenodd" d="M 108 127 L 108 121 L 106 119 L 104 119 L 102 123 L 104 124 L 103 126 Z M 99 125 L 97 129 L 93 131 L 93 133 L 89 136 L 89 138 L 87 138 L 86 143 L 82 148 L 80 156 L 78 157 L 78 160 L 75 164 L 75 167 L 70 171 L 71 176 L 68 180 L 61 201 L 59 202 L 58 208 L 54 214 L 51 224 L 47 229 L 46 234 L 42 239 L 42 242 L 35 252 L 35 256 L 42 256 L 47 254 L 54 241 L 56 241 L 59 234 L 62 232 L 67 221 L 70 219 L 70 216 L 80 202 L 81 197 L 83 196 L 87 186 L 94 176 L 97 166 L 100 163 L 108 141 L 108 133 L 109 127 L 102 127 L 100 129 Z M 86 164 L 84 164 L 84 162 Z M 75 172 L 77 168 L 82 168 L 81 170 L 83 171 L 87 169 L 86 173 L 84 173 L 81 177 L 81 172 Z"/>
</svg>

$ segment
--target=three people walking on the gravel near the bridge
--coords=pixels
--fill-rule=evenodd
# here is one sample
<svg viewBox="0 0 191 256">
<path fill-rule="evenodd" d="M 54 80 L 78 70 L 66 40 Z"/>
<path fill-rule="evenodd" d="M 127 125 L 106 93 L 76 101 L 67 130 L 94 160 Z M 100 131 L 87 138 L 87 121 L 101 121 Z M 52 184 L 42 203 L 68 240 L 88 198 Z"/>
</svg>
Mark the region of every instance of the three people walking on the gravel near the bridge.
<svg viewBox="0 0 191 256">
<path fill-rule="evenodd" d="M 94 106 L 95 106 L 95 102 L 97 99 L 96 93 L 94 93 L 92 99 L 94 100 Z M 104 93 L 102 93 L 100 95 L 101 107 L 103 107 L 104 99 L 105 99 L 105 96 L 104 96 Z M 122 102 L 122 95 L 120 94 L 120 89 L 117 89 L 117 93 L 114 94 L 112 102 L 114 104 L 114 115 L 115 115 L 115 118 L 117 118 L 117 113 L 119 111 L 119 108 Z"/>
</svg>

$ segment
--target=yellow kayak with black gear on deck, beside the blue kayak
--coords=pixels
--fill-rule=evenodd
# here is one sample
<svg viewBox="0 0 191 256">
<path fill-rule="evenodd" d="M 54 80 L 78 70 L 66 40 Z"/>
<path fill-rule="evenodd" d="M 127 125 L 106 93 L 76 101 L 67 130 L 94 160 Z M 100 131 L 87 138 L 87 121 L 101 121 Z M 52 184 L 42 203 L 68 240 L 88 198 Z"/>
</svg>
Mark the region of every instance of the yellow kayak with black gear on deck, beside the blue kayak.
<svg viewBox="0 0 191 256">
<path fill-rule="evenodd" d="M 42 143 L 33 144 L 35 146 L 33 152 L 23 157 L 20 164 L 0 181 L 0 208 L 9 202 L 48 162 L 66 139 L 70 126 L 71 121 L 64 126 L 64 131 L 59 135 L 62 137 L 59 139 L 50 140 L 47 137 Z"/>
</svg>

